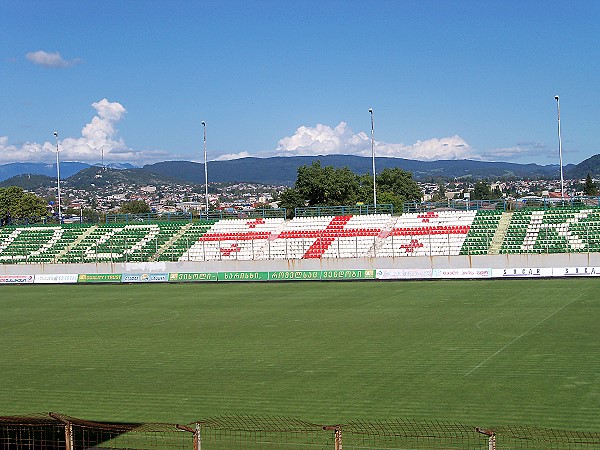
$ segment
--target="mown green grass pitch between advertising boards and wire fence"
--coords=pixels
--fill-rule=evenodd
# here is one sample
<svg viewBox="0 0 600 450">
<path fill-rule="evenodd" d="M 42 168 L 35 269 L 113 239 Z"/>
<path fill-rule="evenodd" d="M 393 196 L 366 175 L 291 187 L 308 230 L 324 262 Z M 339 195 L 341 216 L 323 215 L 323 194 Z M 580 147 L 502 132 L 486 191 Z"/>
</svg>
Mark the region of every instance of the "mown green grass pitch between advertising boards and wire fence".
<svg viewBox="0 0 600 450">
<path fill-rule="evenodd" d="M 0 415 L 600 431 L 594 279 L 0 287 Z"/>
</svg>

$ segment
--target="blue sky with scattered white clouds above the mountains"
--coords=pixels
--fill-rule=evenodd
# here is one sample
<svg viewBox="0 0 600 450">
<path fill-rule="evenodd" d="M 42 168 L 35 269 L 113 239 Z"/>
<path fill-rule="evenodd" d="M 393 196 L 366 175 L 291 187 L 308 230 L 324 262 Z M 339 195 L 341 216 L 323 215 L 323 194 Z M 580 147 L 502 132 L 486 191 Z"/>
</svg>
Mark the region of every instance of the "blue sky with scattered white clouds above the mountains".
<svg viewBox="0 0 600 450">
<path fill-rule="evenodd" d="M 600 2 L 0 0 L 0 164 L 600 153 Z"/>
</svg>

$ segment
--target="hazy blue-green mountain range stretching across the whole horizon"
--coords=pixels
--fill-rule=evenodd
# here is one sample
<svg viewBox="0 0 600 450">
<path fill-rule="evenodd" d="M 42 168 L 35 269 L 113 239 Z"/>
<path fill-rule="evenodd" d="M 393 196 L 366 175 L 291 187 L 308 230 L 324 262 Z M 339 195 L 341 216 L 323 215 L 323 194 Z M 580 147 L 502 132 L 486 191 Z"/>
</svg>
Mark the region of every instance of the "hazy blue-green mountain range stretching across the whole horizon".
<svg viewBox="0 0 600 450">
<path fill-rule="evenodd" d="M 270 185 L 293 185 L 297 169 L 302 165 L 310 165 L 319 160 L 322 166 L 336 168 L 348 167 L 355 173 L 371 173 L 372 159 L 352 155 L 292 156 L 272 158 L 241 158 L 229 161 L 209 161 L 209 182 L 235 183 L 250 182 Z M 99 167 L 80 162 L 63 162 L 60 164 L 61 180 L 66 180 L 72 187 L 89 186 L 118 182 L 135 182 L 136 184 L 164 183 L 204 183 L 204 165 L 189 161 L 165 161 L 135 168 L 131 164 L 111 164 L 107 166 L 109 176 L 99 177 Z M 472 179 L 542 179 L 559 177 L 558 164 L 516 164 L 508 162 L 485 162 L 473 160 L 440 160 L 415 161 L 401 158 L 377 158 L 376 169 L 399 167 L 413 173 L 416 180 L 439 180 L 455 178 Z M 88 169 L 88 170 L 86 170 Z M 600 178 L 600 155 L 574 165 L 563 167 L 565 178 L 585 178 L 589 173 Z M 27 175 L 25 177 L 24 175 Z M 36 177 L 34 175 L 43 175 Z M 108 174 L 107 174 L 108 175 Z M 44 177 L 45 176 L 45 177 Z M 47 177 L 47 178 L 46 178 Z M 45 163 L 11 163 L 0 165 L 0 186 L 40 185 L 53 183 L 56 179 L 56 165 Z M 12 184 L 11 184 L 12 183 Z M 30 188 L 30 187 L 28 187 Z"/>
</svg>

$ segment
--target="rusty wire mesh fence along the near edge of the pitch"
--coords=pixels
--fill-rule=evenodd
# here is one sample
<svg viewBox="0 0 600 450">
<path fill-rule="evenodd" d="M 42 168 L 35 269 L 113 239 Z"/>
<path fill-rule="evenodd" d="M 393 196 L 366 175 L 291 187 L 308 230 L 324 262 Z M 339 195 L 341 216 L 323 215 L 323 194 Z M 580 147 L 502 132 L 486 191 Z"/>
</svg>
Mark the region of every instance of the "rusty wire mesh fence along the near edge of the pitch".
<svg viewBox="0 0 600 450">
<path fill-rule="evenodd" d="M 481 428 L 413 420 L 319 425 L 222 416 L 191 424 L 91 422 L 59 413 L 0 417 L 0 449 L 591 449 L 600 432 L 529 426 Z"/>
</svg>

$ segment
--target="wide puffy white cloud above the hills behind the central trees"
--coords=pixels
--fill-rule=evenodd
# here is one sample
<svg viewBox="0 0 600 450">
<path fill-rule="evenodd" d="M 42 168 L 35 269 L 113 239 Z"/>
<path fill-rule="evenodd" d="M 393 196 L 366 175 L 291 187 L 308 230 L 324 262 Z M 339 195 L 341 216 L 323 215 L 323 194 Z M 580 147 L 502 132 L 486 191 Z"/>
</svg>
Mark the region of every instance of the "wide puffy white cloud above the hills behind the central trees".
<svg viewBox="0 0 600 450">
<path fill-rule="evenodd" d="M 346 122 L 335 128 L 317 124 L 302 126 L 292 136 L 281 139 L 275 152 L 278 156 L 297 155 L 371 155 L 371 137 L 365 132 L 355 134 Z M 460 136 L 417 141 L 412 145 L 375 141 L 377 156 L 418 160 L 478 158 L 474 149 Z"/>
</svg>

